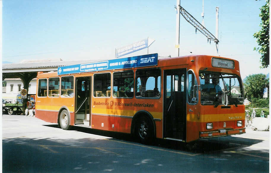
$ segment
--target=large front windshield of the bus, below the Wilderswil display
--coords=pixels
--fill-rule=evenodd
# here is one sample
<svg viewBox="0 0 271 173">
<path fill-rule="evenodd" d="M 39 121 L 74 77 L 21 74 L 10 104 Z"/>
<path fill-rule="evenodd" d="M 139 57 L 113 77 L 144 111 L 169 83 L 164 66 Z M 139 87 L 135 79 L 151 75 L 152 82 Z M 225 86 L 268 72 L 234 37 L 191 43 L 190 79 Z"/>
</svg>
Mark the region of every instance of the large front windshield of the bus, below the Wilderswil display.
<svg viewBox="0 0 271 173">
<path fill-rule="evenodd" d="M 199 71 L 202 105 L 242 105 L 243 86 L 239 76 L 213 71 Z"/>
</svg>

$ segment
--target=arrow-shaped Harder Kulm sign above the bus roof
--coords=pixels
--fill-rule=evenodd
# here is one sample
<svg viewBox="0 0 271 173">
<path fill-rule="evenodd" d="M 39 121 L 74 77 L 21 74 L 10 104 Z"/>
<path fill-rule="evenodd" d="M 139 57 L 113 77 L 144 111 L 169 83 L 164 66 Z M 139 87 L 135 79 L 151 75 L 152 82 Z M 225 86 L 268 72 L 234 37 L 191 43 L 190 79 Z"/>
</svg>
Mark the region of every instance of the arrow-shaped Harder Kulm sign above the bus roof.
<svg viewBox="0 0 271 173">
<path fill-rule="evenodd" d="M 121 48 L 117 48 L 115 51 L 115 57 L 119 58 L 121 56 L 127 55 L 129 53 L 136 52 L 138 50 L 142 50 L 148 48 L 155 40 L 151 38 L 146 38 L 144 40 L 137 41 L 135 43 L 123 46 Z"/>
</svg>

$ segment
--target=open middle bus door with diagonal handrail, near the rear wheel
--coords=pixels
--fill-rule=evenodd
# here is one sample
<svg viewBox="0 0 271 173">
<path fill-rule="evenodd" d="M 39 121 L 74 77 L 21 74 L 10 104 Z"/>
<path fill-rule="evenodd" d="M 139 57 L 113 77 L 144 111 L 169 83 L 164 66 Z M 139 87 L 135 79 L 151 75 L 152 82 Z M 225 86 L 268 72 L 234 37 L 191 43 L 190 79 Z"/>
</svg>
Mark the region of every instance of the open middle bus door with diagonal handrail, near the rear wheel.
<svg viewBox="0 0 271 173">
<path fill-rule="evenodd" d="M 75 88 L 75 123 L 84 123 L 87 119 L 87 114 L 90 114 L 90 91 L 91 91 L 91 77 L 76 77 Z"/>
</svg>

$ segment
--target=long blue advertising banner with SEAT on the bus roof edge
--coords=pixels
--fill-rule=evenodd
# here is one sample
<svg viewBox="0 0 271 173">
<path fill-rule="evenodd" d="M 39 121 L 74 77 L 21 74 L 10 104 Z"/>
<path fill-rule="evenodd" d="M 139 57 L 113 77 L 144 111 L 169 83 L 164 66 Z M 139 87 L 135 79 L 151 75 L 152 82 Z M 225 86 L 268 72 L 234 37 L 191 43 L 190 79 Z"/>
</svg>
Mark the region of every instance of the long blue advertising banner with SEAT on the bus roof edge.
<svg viewBox="0 0 271 173">
<path fill-rule="evenodd" d="M 58 75 L 85 73 L 90 71 L 103 71 L 121 68 L 154 66 L 158 63 L 158 54 L 149 54 L 142 56 L 134 56 L 129 58 L 119 58 L 107 61 L 99 61 L 93 63 L 76 64 L 71 66 L 58 67 Z"/>
</svg>

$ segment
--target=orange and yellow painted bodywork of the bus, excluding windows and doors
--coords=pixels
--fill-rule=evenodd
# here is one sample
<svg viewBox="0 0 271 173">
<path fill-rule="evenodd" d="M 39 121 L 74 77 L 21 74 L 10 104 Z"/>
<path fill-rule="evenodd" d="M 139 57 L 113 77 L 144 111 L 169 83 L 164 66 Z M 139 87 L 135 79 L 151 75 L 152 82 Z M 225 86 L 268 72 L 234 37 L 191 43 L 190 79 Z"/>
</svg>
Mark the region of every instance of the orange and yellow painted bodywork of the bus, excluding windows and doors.
<svg viewBox="0 0 271 173">
<path fill-rule="evenodd" d="M 101 71 L 98 73 L 111 73 L 111 79 L 113 72 L 133 70 L 134 74 L 137 69 L 145 68 L 160 68 L 161 69 L 161 97 L 159 99 L 138 99 L 135 96 L 133 98 L 113 98 L 111 97 L 94 97 L 90 103 L 90 127 L 99 130 L 109 130 L 122 133 L 131 132 L 132 118 L 138 111 L 149 112 L 154 118 L 154 125 L 156 129 L 156 137 L 163 138 L 163 95 L 164 95 L 164 76 L 163 71 L 167 69 L 186 68 L 186 71 L 192 69 L 197 77 L 197 83 L 199 84 L 199 71 L 206 70 L 223 72 L 229 74 L 236 74 L 240 76 L 239 62 L 230 58 L 224 58 L 232 60 L 235 63 L 234 69 L 217 68 L 212 67 L 212 57 L 206 55 L 191 55 L 176 58 L 163 58 L 158 60 L 157 66 L 139 67 L 139 68 L 127 68 L 111 71 Z M 38 74 L 38 79 L 50 78 L 50 77 L 63 77 L 63 76 L 93 76 L 97 72 L 88 72 L 82 74 L 71 74 L 58 76 L 57 72 Z M 93 82 L 92 82 L 93 83 Z M 92 84 L 93 85 L 93 84 Z M 38 86 L 38 80 L 37 80 Z M 75 90 L 75 80 L 74 80 Z M 93 86 L 92 86 L 93 90 Z M 74 91 L 75 92 L 75 91 Z M 91 91 L 93 92 L 93 91 Z M 134 94 L 135 95 L 135 94 Z M 200 100 L 200 93 L 199 98 Z M 103 104 L 104 103 L 104 104 Z M 214 107 L 213 105 L 201 105 L 200 101 L 196 105 L 186 104 L 186 142 L 195 141 L 199 138 L 207 138 L 213 136 L 227 136 L 232 134 L 245 133 L 244 120 L 245 120 L 245 107 L 244 105 L 229 105 L 230 108 L 223 108 L 223 105 Z M 70 125 L 75 125 L 75 97 L 62 98 L 62 97 L 38 97 L 36 95 L 36 117 L 51 123 L 58 123 L 58 115 L 62 107 L 65 107 L 69 113 L 71 122 Z M 189 112 L 189 109 L 193 109 L 194 112 Z M 242 121 L 242 126 L 237 127 L 237 121 Z M 213 123 L 213 129 L 207 130 L 206 123 Z M 224 125 L 228 128 L 226 133 L 219 133 L 213 131 L 219 131 L 219 129 L 225 129 Z M 211 134 L 211 132 L 213 132 Z"/>
</svg>

